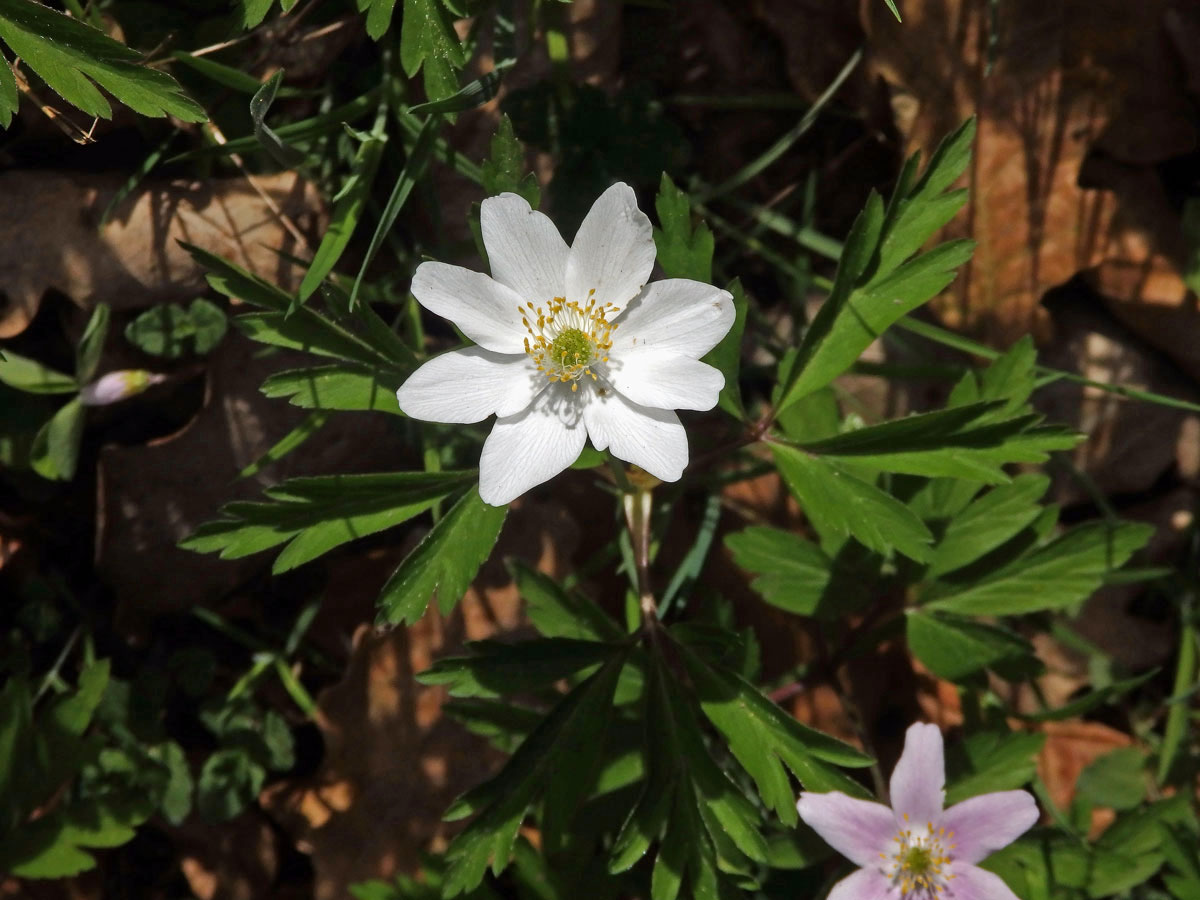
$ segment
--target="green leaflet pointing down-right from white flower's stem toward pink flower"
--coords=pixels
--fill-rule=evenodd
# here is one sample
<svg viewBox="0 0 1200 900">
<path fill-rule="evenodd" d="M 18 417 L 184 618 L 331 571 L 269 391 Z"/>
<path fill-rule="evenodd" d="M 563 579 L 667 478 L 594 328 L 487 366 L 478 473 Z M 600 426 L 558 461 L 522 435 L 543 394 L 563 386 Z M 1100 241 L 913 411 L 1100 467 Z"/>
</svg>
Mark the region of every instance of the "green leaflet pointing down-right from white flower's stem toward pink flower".
<svg viewBox="0 0 1200 900">
<path fill-rule="evenodd" d="M 701 709 L 728 740 L 730 751 L 754 779 L 763 803 L 784 824 L 793 826 L 797 821 L 796 792 L 784 770 L 785 764 L 809 790 L 834 790 L 822 779 L 833 770 L 822 770 L 814 763 L 871 763 L 871 757 L 848 744 L 800 725 L 742 676 L 710 667 L 685 644 L 678 647 Z M 851 779 L 840 775 L 835 780 L 839 782 L 836 790 L 863 794 Z"/>
</svg>

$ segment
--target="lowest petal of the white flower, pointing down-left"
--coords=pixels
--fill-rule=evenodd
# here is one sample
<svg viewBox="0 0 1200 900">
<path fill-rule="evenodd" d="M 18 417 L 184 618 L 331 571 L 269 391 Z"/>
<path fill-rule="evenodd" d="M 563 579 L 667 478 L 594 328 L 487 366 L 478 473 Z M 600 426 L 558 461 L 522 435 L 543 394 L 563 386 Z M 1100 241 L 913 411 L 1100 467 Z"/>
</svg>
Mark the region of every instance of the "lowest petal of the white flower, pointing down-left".
<svg viewBox="0 0 1200 900">
<path fill-rule="evenodd" d="M 552 384 L 523 413 L 496 421 L 479 458 L 485 503 L 511 503 L 578 458 L 587 438 L 581 402 L 566 385 Z"/>
</svg>

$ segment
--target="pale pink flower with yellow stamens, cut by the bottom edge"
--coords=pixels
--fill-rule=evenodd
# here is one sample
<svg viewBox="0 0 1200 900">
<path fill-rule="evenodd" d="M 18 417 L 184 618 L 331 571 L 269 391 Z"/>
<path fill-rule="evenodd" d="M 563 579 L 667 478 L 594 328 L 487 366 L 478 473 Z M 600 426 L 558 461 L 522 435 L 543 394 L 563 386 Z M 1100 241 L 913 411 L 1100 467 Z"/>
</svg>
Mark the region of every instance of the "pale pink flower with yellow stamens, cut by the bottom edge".
<svg viewBox="0 0 1200 900">
<path fill-rule="evenodd" d="M 802 793 L 800 818 L 860 866 L 828 900 L 1018 900 L 976 863 L 1037 822 L 1033 797 L 998 791 L 943 810 L 944 787 L 942 732 L 917 724 L 892 772 L 892 809 L 840 791 Z"/>
</svg>

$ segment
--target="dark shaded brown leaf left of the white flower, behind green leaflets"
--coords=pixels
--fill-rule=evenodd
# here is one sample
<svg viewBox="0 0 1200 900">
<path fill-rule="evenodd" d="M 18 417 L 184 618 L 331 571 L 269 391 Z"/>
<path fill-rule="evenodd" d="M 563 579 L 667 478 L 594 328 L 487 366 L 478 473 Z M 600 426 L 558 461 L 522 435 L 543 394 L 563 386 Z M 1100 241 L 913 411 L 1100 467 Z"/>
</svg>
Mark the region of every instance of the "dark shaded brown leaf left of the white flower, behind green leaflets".
<svg viewBox="0 0 1200 900">
<path fill-rule="evenodd" d="M 259 499 L 288 475 L 395 468 L 402 442 L 386 414 L 358 414 L 347 431 L 335 419 L 296 452 L 259 475 L 238 479 L 307 410 L 269 400 L 259 385 L 283 368 L 311 365 L 306 354 L 262 355 L 234 330 L 206 359 L 205 402 L 182 430 L 143 446 L 106 446 L 97 475 L 97 566 L 121 598 L 120 628 L 137 632 L 146 613 L 211 604 L 272 553 L 246 559 L 181 550 L 178 542 L 230 500 Z"/>
</svg>

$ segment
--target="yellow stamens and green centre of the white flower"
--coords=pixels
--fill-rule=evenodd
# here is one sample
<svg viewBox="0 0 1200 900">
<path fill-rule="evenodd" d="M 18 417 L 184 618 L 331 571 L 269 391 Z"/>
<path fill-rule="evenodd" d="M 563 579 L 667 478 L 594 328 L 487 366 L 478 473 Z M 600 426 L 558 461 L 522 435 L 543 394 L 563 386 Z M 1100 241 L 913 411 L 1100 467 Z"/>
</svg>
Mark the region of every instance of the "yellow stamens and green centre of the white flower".
<svg viewBox="0 0 1200 900">
<path fill-rule="evenodd" d="M 576 380 L 584 374 L 595 380 L 592 366 L 608 361 L 617 328 L 607 318 L 616 307 L 596 305 L 594 295 L 595 290 L 589 290 L 586 304 L 556 296 L 545 308 L 532 302 L 517 307 L 529 332 L 526 353 L 533 356 L 539 372 L 552 382 L 570 382 L 572 391 L 580 389 Z"/>
</svg>

